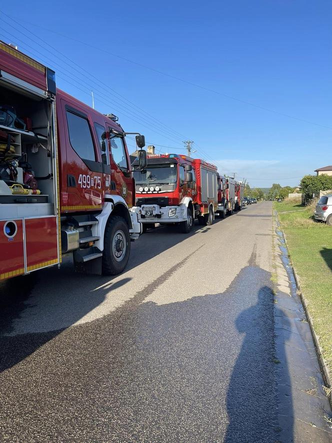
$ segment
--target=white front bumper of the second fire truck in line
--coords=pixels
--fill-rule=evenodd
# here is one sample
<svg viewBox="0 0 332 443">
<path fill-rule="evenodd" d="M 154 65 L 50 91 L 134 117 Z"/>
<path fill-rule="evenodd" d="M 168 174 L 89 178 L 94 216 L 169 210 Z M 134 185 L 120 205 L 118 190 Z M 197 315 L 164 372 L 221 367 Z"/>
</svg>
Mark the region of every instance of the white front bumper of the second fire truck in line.
<svg viewBox="0 0 332 443">
<path fill-rule="evenodd" d="M 135 211 L 138 216 L 138 221 L 140 223 L 180 223 L 186 221 L 186 211 L 187 208 L 185 206 L 163 206 L 159 207 L 158 205 L 146 205 L 146 206 L 154 206 L 155 210 L 152 211 L 152 215 L 146 215 L 144 211 L 144 205 L 134 206 L 131 210 Z M 169 210 L 173 210 L 175 212 L 173 216 L 169 216 Z"/>
</svg>

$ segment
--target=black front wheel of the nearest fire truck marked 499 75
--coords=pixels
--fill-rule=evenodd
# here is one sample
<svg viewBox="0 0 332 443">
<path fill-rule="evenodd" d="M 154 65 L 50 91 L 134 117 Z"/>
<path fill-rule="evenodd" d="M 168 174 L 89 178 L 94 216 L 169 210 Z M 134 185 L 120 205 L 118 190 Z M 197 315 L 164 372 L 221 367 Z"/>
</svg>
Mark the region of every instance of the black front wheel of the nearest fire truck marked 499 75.
<svg viewBox="0 0 332 443">
<path fill-rule="evenodd" d="M 128 263 L 129 254 L 128 225 L 122 217 L 111 217 L 105 227 L 102 273 L 104 275 L 120 274 Z"/>
</svg>

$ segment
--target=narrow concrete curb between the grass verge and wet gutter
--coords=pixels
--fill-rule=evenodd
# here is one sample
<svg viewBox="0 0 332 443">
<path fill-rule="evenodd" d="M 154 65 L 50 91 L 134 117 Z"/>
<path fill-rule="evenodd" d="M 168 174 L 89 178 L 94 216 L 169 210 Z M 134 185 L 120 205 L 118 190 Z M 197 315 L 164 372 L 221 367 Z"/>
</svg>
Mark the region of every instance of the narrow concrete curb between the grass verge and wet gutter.
<svg viewBox="0 0 332 443">
<path fill-rule="evenodd" d="M 287 253 L 288 253 L 288 256 L 289 256 L 287 239 L 286 239 L 285 233 L 283 232 L 283 230 L 281 228 L 279 216 L 278 216 L 278 213 L 276 211 L 275 211 L 275 215 L 276 215 L 276 218 L 278 220 L 279 228 L 280 228 L 280 231 L 282 232 L 282 236 L 283 236 L 283 239 L 284 239 L 284 242 L 285 242 L 285 246 L 287 248 Z M 318 363 L 319 363 L 320 371 L 322 373 L 325 386 L 327 388 L 329 388 L 329 389 L 332 389 L 331 377 L 330 377 L 329 370 L 328 370 L 328 367 L 326 365 L 326 362 L 325 362 L 325 360 L 324 360 L 324 358 L 322 356 L 322 349 L 321 349 L 321 347 L 319 345 L 319 337 L 316 335 L 316 333 L 314 331 L 314 328 L 313 328 L 313 320 L 312 320 L 312 317 L 311 317 L 311 315 L 309 314 L 309 311 L 308 311 L 308 303 L 307 303 L 307 301 L 305 300 L 305 298 L 303 296 L 303 293 L 302 293 L 302 290 L 301 290 L 301 287 L 300 287 L 300 284 L 299 284 L 299 278 L 298 278 L 298 276 L 296 274 L 294 266 L 292 265 L 291 262 L 290 262 L 290 265 L 291 265 L 291 270 L 292 270 L 292 273 L 293 273 L 293 276 L 294 276 L 294 280 L 295 280 L 295 283 L 296 283 L 296 288 L 297 288 L 297 291 L 298 291 L 298 295 L 299 295 L 299 298 L 301 300 L 301 303 L 302 303 L 302 306 L 303 306 L 303 309 L 304 309 L 304 312 L 305 312 L 305 316 L 306 316 L 307 321 L 308 321 L 309 326 L 310 326 L 310 331 L 311 331 L 314 347 L 315 347 L 317 358 L 318 358 Z M 330 404 L 331 409 L 332 409 L 332 390 L 330 390 L 329 394 L 326 394 L 326 396 L 328 398 L 329 404 Z"/>
</svg>

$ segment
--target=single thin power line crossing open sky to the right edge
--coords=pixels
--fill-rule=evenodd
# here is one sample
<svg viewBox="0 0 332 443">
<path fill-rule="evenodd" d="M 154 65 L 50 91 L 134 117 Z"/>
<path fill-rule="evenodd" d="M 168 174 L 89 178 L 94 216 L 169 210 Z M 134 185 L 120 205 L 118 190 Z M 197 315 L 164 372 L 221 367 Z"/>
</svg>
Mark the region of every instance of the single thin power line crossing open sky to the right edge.
<svg viewBox="0 0 332 443">
<path fill-rule="evenodd" d="M 2 14 L 4 14 L 4 13 L 2 12 Z M 8 18 L 10 18 L 11 20 L 14 21 L 14 19 L 12 19 L 11 17 L 9 17 L 7 14 L 4 14 L 4 15 L 5 15 L 6 17 L 8 17 Z M 16 22 L 16 23 L 17 23 L 17 22 Z M 25 23 L 29 23 L 29 22 L 25 22 Z M 153 71 L 153 72 L 155 72 L 155 73 L 161 74 L 161 75 L 163 75 L 163 76 L 165 76 L 165 77 L 169 77 L 169 78 L 174 79 L 174 80 L 177 80 L 177 81 L 179 81 L 179 82 L 186 83 L 186 84 L 188 84 L 188 85 L 194 86 L 195 88 L 203 89 L 203 90 L 205 90 L 205 91 L 211 92 L 211 93 L 213 93 L 213 94 L 217 94 L 217 95 L 222 96 L 222 97 L 225 97 L 225 98 L 227 98 L 227 99 L 234 100 L 234 101 L 236 101 L 236 102 L 243 103 L 243 104 L 245 104 L 245 105 L 249 105 L 249 106 L 252 106 L 252 107 L 254 107 L 254 108 L 261 109 L 261 110 L 263 110 L 263 111 L 267 111 L 267 112 L 270 112 L 270 113 L 273 113 L 273 114 L 276 114 L 276 115 L 280 115 L 280 116 L 282 116 L 282 117 L 287 117 L 287 118 L 290 118 L 290 119 L 293 119 L 293 120 L 297 120 L 297 121 L 300 121 L 300 122 L 303 122 L 303 123 L 308 123 L 308 124 L 310 124 L 310 125 L 319 126 L 319 127 L 321 127 L 321 128 L 325 128 L 325 129 L 332 129 L 332 127 L 330 127 L 330 126 L 321 125 L 321 124 L 319 124 L 319 123 L 311 122 L 311 121 L 309 121 L 309 120 L 304 120 L 304 119 L 301 119 L 301 118 L 298 118 L 298 117 L 294 117 L 294 116 L 291 116 L 291 115 L 289 115 L 289 114 L 285 114 L 285 113 L 282 113 L 282 112 L 279 112 L 279 111 L 275 111 L 275 110 L 273 110 L 273 109 L 269 109 L 269 108 L 266 108 L 266 107 L 263 107 L 263 106 L 256 105 L 256 104 L 251 103 L 251 102 L 248 102 L 248 101 L 246 101 L 246 100 L 241 100 L 241 99 L 238 99 L 238 98 L 236 98 L 236 97 L 232 97 L 232 96 L 230 96 L 230 95 L 228 95 L 228 94 L 223 94 L 223 93 L 221 93 L 221 92 L 219 92 L 219 91 L 215 91 L 215 90 L 213 90 L 213 89 L 211 89 L 211 88 L 207 88 L 207 87 L 202 86 L 202 85 L 197 85 L 196 83 L 192 83 L 192 82 L 189 82 L 189 81 L 187 81 L 187 80 L 185 80 L 185 79 L 181 79 L 180 77 L 176 77 L 176 76 L 173 76 L 173 75 L 171 75 L 171 74 L 167 74 L 167 73 L 162 72 L 162 71 L 159 71 L 159 70 L 157 70 L 157 69 L 155 69 L 155 68 L 151 68 L 150 66 L 146 66 L 146 65 L 143 65 L 143 64 L 141 64 L 141 63 L 134 62 L 133 60 L 127 59 L 126 57 L 122 57 L 122 56 L 119 56 L 119 55 L 117 55 L 117 54 L 115 54 L 115 53 L 112 53 L 112 52 L 106 51 L 106 50 L 104 50 L 104 49 L 102 49 L 102 48 L 95 47 L 95 46 L 93 46 L 93 45 L 90 45 L 89 43 L 86 43 L 86 42 L 82 42 L 82 41 L 80 41 L 80 40 L 73 39 L 72 37 L 69 37 L 69 36 L 66 36 L 66 35 L 60 34 L 60 33 L 56 32 L 56 31 L 53 31 L 53 30 L 50 30 L 50 29 L 47 29 L 47 28 L 41 27 L 41 26 L 36 25 L 36 24 L 32 24 L 32 23 L 29 23 L 29 24 L 32 25 L 32 26 L 36 26 L 36 27 L 38 27 L 38 28 L 44 29 L 44 30 L 46 30 L 46 31 L 49 31 L 49 32 L 51 32 L 51 33 L 57 34 L 57 35 L 59 35 L 59 36 L 61 36 L 61 37 L 64 37 L 64 38 L 66 38 L 66 39 L 69 39 L 69 40 L 72 40 L 72 41 L 74 41 L 74 42 L 77 42 L 77 43 L 79 43 L 79 44 L 81 44 L 81 45 L 88 46 L 88 47 L 90 47 L 90 48 L 92 48 L 92 49 L 95 49 L 95 50 L 97 50 L 97 51 L 103 52 L 103 53 L 105 53 L 105 54 L 109 54 L 109 55 L 111 55 L 111 56 L 113 56 L 113 57 L 116 57 L 116 58 L 118 58 L 118 59 L 124 60 L 124 61 L 126 61 L 126 62 L 128 62 L 128 63 L 132 63 L 132 64 L 134 64 L 134 65 L 137 65 L 137 66 L 140 66 L 140 67 L 142 67 L 142 68 L 148 69 L 148 70 Z M 25 29 L 26 29 L 26 28 L 25 28 Z M 29 31 L 29 30 L 28 30 L 28 31 Z M 30 32 L 30 31 L 29 31 L 29 32 Z"/>
</svg>

